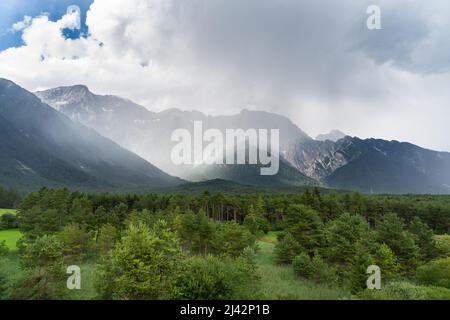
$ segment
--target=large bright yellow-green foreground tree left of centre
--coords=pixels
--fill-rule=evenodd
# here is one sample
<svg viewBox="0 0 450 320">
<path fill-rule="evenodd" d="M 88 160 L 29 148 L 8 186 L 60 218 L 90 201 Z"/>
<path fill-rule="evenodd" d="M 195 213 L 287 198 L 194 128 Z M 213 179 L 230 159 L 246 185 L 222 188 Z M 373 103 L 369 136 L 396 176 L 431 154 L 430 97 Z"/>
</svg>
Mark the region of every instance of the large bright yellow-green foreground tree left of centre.
<svg viewBox="0 0 450 320">
<path fill-rule="evenodd" d="M 181 250 L 164 221 L 151 229 L 130 224 L 122 239 L 99 265 L 96 288 L 101 298 L 161 299 L 167 297 Z"/>
</svg>

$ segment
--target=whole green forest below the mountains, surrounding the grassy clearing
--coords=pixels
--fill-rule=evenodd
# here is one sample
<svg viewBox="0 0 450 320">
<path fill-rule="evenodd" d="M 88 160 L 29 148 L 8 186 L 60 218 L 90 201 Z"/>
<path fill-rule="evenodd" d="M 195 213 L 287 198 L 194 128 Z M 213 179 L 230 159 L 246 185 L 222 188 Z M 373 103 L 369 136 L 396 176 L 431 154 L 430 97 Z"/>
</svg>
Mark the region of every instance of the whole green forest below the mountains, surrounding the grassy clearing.
<svg viewBox="0 0 450 320">
<path fill-rule="evenodd" d="M 272 298 L 259 290 L 255 262 L 256 240 L 268 231 L 278 232 L 276 262 L 310 281 L 366 297 L 366 268 L 376 264 L 390 290 L 406 279 L 436 286 L 423 289 L 425 298 L 450 296 L 450 253 L 435 240 L 449 232 L 450 197 L 43 188 L 23 199 L 17 220 L 26 276 L 7 285 L 9 298 L 63 298 L 64 267 L 85 261 L 96 263 L 102 299 Z"/>
</svg>

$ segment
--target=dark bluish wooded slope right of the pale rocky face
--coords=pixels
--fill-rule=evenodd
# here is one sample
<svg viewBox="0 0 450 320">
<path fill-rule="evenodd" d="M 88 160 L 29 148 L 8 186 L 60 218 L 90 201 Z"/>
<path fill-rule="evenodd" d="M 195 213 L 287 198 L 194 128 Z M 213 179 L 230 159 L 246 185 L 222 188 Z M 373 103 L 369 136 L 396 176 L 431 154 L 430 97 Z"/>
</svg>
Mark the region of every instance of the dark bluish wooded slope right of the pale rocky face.
<svg viewBox="0 0 450 320">
<path fill-rule="evenodd" d="M 341 153 L 348 163 L 325 178 L 331 187 L 374 193 L 450 193 L 450 153 L 357 138 Z"/>
</svg>

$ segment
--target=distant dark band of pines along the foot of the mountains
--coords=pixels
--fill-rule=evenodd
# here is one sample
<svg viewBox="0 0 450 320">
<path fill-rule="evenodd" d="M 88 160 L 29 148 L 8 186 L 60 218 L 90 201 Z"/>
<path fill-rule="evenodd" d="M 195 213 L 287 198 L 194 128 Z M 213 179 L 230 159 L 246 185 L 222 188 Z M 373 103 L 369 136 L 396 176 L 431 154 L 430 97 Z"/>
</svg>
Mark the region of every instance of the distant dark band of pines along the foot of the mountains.
<svg viewBox="0 0 450 320">
<path fill-rule="evenodd" d="M 264 208 L 264 219 L 270 224 L 271 230 L 281 230 L 283 213 L 287 212 L 291 205 L 310 207 L 318 212 L 323 222 L 350 212 L 361 215 L 370 226 L 375 226 L 387 213 L 396 213 L 407 223 L 419 218 L 435 233 L 450 233 L 448 196 L 366 196 L 359 193 L 333 192 L 321 194 L 318 189 L 307 190 L 302 194 L 229 196 L 205 192 L 200 196 L 191 196 L 83 194 L 70 192 L 68 189 L 43 188 L 30 193 L 22 201 L 20 211 L 22 216 L 33 208 L 50 211 L 46 212 L 49 217 L 43 220 L 52 225 L 54 230 L 60 230 L 70 221 L 86 221 L 91 228 L 96 225 L 97 229 L 101 224 L 109 222 L 120 229 L 127 215 L 133 210 L 147 210 L 150 214 L 165 214 L 175 209 L 181 212 L 203 210 L 208 218 L 215 221 L 242 223 L 252 208 L 259 206 Z M 22 228 L 26 229 L 28 224 L 33 224 L 28 223 L 26 218 L 22 220 Z"/>
</svg>

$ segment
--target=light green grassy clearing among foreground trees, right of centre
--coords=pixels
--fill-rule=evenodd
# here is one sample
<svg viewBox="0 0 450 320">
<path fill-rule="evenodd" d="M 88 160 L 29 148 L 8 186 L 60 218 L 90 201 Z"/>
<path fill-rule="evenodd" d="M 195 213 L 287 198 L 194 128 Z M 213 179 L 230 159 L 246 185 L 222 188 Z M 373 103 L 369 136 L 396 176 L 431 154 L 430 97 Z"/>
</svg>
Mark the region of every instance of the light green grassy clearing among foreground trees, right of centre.
<svg viewBox="0 0 450 320">
<path fill-rule="evenodd" d="M 269 232 L 258 242 L 257 261 L 262 278 L 264 299 L 336 300 L 351 298 L 348 291 L 303 280 L 295 275 L 291 266 L 277 265 L 273 254 L 276 236 L 276 233 Z"/>
</svg>

